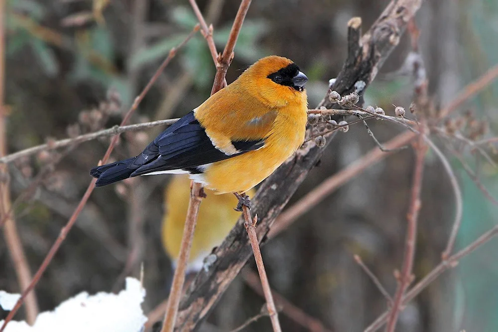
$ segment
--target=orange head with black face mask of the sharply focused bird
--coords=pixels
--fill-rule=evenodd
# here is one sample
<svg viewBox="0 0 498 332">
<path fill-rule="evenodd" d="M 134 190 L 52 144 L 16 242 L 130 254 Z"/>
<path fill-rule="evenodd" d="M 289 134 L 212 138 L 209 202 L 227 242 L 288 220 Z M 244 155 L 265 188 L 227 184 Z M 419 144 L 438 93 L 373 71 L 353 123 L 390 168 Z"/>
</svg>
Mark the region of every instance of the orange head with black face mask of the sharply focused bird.
<svg viewBox="0 0 498 332">
<path fill-rule="evenodd" d="M 241 79 L 247 88 L 275 107 L 290 102 L 306 103 L 308 78 L 299 67 L 284 57 L 272 55 L 262 58 L 250 66 Z"/>
</svg>

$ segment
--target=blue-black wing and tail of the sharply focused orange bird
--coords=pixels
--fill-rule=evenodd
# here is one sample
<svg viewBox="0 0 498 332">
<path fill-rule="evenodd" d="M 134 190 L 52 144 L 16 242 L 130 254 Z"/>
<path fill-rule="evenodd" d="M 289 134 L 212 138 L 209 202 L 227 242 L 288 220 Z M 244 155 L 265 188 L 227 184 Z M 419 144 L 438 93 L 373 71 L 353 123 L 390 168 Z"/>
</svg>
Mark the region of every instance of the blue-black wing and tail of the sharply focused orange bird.
<svg viewBox="0 0 498 332">
<path fill-rule="evenodd" d="M 264 139 L 232 142 L 237 154 L 218 150 L 191 111 L 160 133 L 138 156 L 96 167 L 90 174 L 99 180 L 96 186 L 152 172 L 186 170 L 200 173 L 197 166 L 228 159 L 264 145 Z"/>
</svg>

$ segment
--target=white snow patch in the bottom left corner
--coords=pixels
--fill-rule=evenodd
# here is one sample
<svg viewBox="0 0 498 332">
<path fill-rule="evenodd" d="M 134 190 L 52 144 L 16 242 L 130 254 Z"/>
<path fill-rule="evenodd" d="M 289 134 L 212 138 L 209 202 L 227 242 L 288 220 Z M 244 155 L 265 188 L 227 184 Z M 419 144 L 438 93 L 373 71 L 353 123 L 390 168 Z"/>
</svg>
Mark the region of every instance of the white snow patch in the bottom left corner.
<svg viewBox="0 0 498 332">
<path fill-rule="evenodd" d="M 13 306 L 8 306 L 11 299 L 15 303 L 18 295 L 5 294 L 0 292 L 0 304 L 8 310 Z M 26 322 L 11 321 L 5 332 L 140 332 L 147 321 L 140 307 L 144 297 L 140 282 L 126 278 L 126 289 L 119 294 L 82 292 L 54 311 L 39 314 L 32 327 Z"/>
</svg>

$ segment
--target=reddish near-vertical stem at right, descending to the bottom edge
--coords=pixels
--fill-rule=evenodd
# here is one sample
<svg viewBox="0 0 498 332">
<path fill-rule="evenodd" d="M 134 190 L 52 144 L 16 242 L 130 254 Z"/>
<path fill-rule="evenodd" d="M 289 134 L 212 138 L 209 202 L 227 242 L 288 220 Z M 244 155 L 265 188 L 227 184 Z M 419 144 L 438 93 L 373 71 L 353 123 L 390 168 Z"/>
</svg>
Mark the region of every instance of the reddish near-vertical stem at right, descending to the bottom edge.
<svg viewBox="0 0 498 332">
<path fill-rule="evenodd" d="M 423 131 L 420 128 L 420 131 Z M 412 268 L 413 260 L 415 258 L 415 242 L 417 238 L 417 221 L 418 212 L 420 211 L 420 191 L 422 188 L 422 178 L 424 170 L 425 152 L 427 145 L 425 145 L 423 134 L 419 135 L 418 141 L 415 146 L 415 171 L 413 175 L 413 183 L 411 187 L 410 206 L 408 208 L 408 225 L 406 229 L 406 242 L 405 252 L 403 258 L 403 266 L 401 267 L 401 275 L 398 280 L 398 287 L 394 294 L 394 300 L 390 311 L 389 319 L 387 321 L 386 332 L 394 332 L 398 315 L 401 311 L 401 302 L 403 295 L 413 280 Z"/>
</svg>

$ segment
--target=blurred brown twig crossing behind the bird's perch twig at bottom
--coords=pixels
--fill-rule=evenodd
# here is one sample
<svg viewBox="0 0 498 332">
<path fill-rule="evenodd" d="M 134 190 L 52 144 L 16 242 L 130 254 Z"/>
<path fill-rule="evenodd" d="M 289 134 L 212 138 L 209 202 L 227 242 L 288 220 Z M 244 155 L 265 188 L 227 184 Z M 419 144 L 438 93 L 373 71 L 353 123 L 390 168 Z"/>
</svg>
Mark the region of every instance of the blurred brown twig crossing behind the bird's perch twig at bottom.
<svg viewBox="0 0 498 332">
<path fill-rule="evenodd" d="M 248 284 L 254 292 L 264 297 L 263 288 L 261 287 L 261 282 L 259 281 L 259 276 L 255 272 L 248 269 L 247 271 L 245 271 L 245 273 L 242 274 L 242 276 L 244 278 L 244 281 L 246 281 L 246 284 Z M 277 310 L 303 328 L 306 328 L 307 330 L 312 332 L 331 332 L 331 330 L 327 329 L 322 322 L 306 314 L 300 308 L 290 303 L 282 295 L 278 294 L 274 290 L 271 290 L 271 294 L 273 295 L 273 299 L 275 300 Z"/>
</svg>

